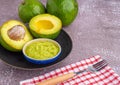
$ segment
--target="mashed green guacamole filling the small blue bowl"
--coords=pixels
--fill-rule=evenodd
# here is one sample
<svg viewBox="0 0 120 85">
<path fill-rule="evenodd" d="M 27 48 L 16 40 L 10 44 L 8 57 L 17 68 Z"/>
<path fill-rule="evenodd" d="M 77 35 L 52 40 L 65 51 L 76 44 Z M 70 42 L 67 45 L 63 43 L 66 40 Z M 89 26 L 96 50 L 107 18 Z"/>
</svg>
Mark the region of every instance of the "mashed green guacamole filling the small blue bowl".
<svg viewBox="0 0 120 85">
<path fill-rule="evenodd" d="M 30 58 L 45 60 L 56 56 L 59 50 L 59 47 L 53 42 L 38 41 L 27 46 L 25 53 Z"/>
</svg>

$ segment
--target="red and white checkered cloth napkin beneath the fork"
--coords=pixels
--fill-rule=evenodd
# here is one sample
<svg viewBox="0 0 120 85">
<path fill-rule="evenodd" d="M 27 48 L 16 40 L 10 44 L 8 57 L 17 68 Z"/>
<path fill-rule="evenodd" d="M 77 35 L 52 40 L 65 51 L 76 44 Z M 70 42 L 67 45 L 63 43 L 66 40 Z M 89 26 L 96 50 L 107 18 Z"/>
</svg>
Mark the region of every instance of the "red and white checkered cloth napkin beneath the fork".
<svg viewBox="0 0 120 85">
<path fill-rule="evenodd" d="M 21 81 L 20 85 L 35 85 L 38 82 L 55 76 L 73 71 L 77 72 L 79 70 L 87 68 L 88 65 L 97 63 L 100 60 L 100 56 L 93 56 L 80 62 L 76 62 L 65 67 L 56 69 L 44 75 Z M 60 83 L 59 85 L 120 85 L 120 76 L 116 74 L 111 67 L 106 66 L 99 72 L 84 72 L 73 77 L 72 79 L 68 79 L 67 81 Z"/>
</svg>

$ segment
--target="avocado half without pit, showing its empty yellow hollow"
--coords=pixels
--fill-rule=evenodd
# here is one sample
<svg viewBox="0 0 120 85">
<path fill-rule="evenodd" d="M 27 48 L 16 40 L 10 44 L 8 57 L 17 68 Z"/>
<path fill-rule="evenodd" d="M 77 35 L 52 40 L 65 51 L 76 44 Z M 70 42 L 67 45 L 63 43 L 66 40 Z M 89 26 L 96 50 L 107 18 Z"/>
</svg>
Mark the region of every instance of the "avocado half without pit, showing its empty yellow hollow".
<svg viewBox="0 0 120 85">
<path fill-rule="evenodd" d="M 55 39 L 62 29 L 62 22 L 54 15 L 40 14 L 30 20 L 29 27 L 36 38 Z"/>
</svg>

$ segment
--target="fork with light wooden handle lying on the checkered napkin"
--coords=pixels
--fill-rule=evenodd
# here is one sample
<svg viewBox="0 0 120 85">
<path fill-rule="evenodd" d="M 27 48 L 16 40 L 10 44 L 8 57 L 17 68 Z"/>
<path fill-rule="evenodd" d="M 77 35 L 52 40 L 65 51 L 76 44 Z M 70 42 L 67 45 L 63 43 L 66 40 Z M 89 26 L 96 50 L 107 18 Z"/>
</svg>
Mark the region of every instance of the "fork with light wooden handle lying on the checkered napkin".
<svg viewBox="0 0 120 85">
<path fill-rule="evenodd" d="M 42 82 L 39 82 L 37 83 L 36 85 L 57 85 L 58 83 L 60 82 L 63 82 L 65 80 L 68 80 L 80 73 L 83 73 L 83 72 L 97 72 L 97 71 L 100 71 L 102 70 L 104 67 L 106 67 L 108 65 L 107 61 L 106 60 L 101 60 L 91 66 L 88 66 L 87 69 L 84 69 L 84 70 L 81 70 L 81 71 L 78 71 L 78 72 L 71 72 L 71 73 L 68 73 L 68 74 L 63 74 L 61 76 L 58 76 L 58 77 L 54 77 L 54 78 L 51 78 L 51 79 L 48 79 L 48 80 L 45 80 L 45 81 L 42 81 Z"/>
</svg>

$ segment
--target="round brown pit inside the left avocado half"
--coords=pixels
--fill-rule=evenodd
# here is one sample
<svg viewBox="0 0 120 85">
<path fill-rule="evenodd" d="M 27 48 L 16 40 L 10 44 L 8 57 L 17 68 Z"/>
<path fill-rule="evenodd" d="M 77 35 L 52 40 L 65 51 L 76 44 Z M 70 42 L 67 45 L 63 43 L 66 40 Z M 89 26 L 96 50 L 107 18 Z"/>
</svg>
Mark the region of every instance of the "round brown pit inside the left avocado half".
<svg viewBox="0 0 120 85">
<path fill-rule="evenodd" d="M 9 29 L 7 34 L 10 39 L 18 41 L 18 40 L 24 39 L 25 30 L 24 30 L 23 26 L 16 25 L 16 26 L 13 26 L 11 29 Z"/>
</svg>

